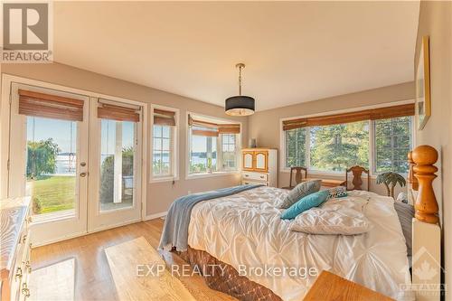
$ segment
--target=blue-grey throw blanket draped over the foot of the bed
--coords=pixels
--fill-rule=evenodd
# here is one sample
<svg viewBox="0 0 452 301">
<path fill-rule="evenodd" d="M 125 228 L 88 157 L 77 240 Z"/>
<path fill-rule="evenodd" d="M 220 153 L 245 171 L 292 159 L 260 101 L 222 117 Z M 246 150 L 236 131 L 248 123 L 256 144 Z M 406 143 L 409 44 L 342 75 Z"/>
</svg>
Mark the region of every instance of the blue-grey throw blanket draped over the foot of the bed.
<svg viewBox="0 0 452 301">
<path fill-rule="evenodd" d="M 185 195 L 173 202 L 168 214 L 166 214 L 164 230 L 160 238 L 158 249 L 170 250 L 175 247 L 178 251 L 188 248 L 188 225 L 195 204 L 202 201 L 212 200 L 241 193 L 262 185 L 240 185 L 235 187 L 221 188 L 207 193 L 195 193 Z"/>
</svg>

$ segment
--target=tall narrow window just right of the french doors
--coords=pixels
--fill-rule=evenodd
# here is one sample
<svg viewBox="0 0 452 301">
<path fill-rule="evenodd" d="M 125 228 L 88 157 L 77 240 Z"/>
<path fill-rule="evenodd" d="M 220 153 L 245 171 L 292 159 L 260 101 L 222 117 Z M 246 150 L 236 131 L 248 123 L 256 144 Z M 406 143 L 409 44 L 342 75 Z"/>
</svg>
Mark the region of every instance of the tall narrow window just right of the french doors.
<svg viewBox="0 0 452 301">
<path fill-rule="evenodd" d="M 177 178 L 176 120 L 177 111 L 151 106 L 152 128 L 152 180 L 167 181 Z"/>
</svg>

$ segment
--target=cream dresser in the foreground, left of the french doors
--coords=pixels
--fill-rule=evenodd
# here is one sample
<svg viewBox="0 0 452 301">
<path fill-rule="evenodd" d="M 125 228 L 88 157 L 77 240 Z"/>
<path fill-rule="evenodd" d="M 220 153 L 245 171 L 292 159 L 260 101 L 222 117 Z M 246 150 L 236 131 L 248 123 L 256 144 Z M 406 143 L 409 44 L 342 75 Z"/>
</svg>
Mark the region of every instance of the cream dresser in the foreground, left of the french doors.
<svg viewBox="0 0 452 301">
<path fill-rule="evenodd" d="M 30 296 L 31 198 L 0 201 L 1 300 L 25 300 Z"/>
</svg>

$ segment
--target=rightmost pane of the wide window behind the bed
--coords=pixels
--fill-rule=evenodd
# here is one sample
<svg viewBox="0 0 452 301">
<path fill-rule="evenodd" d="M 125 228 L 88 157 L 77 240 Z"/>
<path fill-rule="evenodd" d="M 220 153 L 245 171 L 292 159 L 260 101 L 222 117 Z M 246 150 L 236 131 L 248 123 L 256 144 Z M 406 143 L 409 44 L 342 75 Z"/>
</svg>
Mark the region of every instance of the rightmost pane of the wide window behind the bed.
<svg viewBox="0 0 452 301">
<path fill-rule="evenodd" d="M 411 149 L 410 117 L 373 121 L 375 173 L 407 173 L 407 154 Z"/>
</svg>

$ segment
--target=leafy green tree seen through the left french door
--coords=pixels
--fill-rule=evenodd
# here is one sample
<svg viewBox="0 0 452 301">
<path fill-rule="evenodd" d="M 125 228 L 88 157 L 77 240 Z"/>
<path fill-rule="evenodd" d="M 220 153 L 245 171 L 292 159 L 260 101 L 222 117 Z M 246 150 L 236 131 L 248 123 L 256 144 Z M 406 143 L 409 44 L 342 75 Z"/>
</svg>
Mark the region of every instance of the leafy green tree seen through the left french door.
<svg viewBox="0 0 452 301">
<path fill-rule="evenodd" d="M 52 138 L 38 142 L 27 142 L 27 168 L 28 179 L 36 179 L 42 174 L 53 174 L 56 169 L 56 158 L 60 147 Z"/>
</svg>

